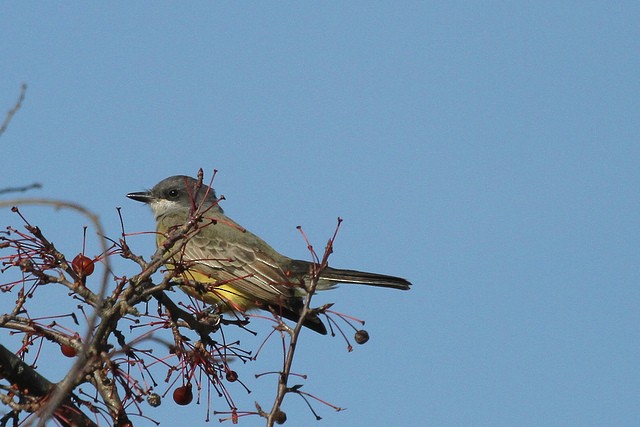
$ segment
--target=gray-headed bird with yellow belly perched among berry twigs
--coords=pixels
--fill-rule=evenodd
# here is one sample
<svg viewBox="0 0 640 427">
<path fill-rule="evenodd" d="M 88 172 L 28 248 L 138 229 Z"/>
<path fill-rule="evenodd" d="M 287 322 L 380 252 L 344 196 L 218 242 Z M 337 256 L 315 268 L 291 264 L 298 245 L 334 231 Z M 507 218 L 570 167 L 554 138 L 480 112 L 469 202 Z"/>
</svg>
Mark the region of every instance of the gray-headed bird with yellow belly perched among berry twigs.
<svg viewBox="0 0 640 427">
<path fill-rule="evenodd" d="M 297 322 L 312 280 L 312 263 L 280 254 L 267 242 L 225 215 L 215 190 L 202 180 L 175 175 L 151 190 L 127 194 L 151 207 L 156 221 L 156 244 L 165 245 L 171 231 L 196 215 L 201 220 L 195 233 L 181 238 L 172 261 L 165 264 L 180 288 L 221 312 L 262 309 Z M 316 290 L 330 290 L 350 283 L 408 290 L 403 278 L 357 270 L 325 267 Z M 322 320 L 311 312 L 303 326 L 326 335 Z"/>
</svg>

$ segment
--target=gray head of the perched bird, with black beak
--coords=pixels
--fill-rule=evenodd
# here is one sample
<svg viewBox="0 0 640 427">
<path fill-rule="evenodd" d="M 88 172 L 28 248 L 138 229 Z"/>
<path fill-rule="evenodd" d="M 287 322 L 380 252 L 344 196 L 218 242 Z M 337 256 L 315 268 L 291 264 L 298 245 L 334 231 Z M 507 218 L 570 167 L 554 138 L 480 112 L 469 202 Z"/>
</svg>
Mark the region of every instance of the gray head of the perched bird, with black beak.
<svg viewBox="0 0 640 427">
<path fill-rule="evenodd" d="M 213 188 L 203 184 L 197 189 L 197 184 L 190 176 L 176 175 L 163 179 L 149 191 L 129 193 L 127 197 L 148 204 L 156 219 L 176 210 L 197 208 L 222 213 Z"/>
</svg>

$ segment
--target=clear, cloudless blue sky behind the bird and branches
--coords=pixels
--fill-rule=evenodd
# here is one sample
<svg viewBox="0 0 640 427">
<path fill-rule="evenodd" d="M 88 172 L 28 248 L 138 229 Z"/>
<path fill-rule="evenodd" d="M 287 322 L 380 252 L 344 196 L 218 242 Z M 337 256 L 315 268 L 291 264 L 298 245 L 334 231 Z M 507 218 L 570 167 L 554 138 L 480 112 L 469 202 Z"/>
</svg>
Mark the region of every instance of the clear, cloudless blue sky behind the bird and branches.
<svg viewBox="0 0 640 427">
<path fill-rule="evenodd" d="M 305 259 L 295 227 L 322 248 L 343 217 L 332 265 L 414 287 L 318 297 L 371 340 L 303 336 L 305 390 L 348 410 L 316 423 L 290 396 L 287 425 L 635 426 L 639 22 L 637 2 L 3 3 L 3 113 L 29 89 L 1 186 L 117 237 L 117 206 L 153 227 L 126 193 L 215 168 L 226 212 Z M 79 251 L 86 220 L 25 212 Z"/>
</svg>

